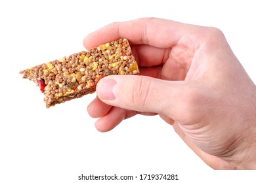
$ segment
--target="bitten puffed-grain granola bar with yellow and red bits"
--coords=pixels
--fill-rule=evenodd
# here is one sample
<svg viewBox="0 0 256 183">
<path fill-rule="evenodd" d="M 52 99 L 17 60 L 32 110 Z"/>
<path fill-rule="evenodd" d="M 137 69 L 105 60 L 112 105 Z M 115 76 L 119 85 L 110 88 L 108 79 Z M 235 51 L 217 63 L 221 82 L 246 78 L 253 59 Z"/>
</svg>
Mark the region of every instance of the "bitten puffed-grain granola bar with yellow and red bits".
<svg viewBox="0 0 256 183">
<path fill-rule="evenodd" d="M 49 108 L 95 92 L 104 76 L 139 75 L 139 69 L 127 39 L 119 39 L 20 73 L 40 87 Z"/>
</svg>

